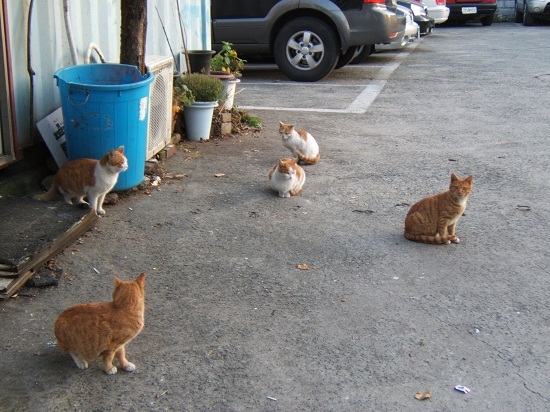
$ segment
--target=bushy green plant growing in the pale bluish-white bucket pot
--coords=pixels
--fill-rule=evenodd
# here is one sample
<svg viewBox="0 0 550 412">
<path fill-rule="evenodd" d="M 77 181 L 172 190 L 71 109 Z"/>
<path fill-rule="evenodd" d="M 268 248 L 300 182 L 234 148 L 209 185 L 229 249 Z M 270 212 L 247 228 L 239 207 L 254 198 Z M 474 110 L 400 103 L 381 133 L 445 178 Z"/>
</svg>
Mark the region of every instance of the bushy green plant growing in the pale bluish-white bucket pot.
<svg viewBox="0 0 550 412">
<path fill-rule="evenodd" d="M 214 102 L 223 97 L 224 84 L 220 79 L 201 73 L 191 73 L 176 80 L 174 98 L 184 106 L 194 102 Z"/>
</svg>

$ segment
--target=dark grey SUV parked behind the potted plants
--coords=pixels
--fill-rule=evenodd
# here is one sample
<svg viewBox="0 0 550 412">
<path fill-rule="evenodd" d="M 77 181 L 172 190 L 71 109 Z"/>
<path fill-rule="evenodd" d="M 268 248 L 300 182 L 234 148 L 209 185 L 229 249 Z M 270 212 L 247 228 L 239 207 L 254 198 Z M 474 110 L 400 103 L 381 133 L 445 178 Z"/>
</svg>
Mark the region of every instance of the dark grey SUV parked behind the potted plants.
<svg viewBox="0 0 550 412">
<path fill-rule="evenodd" d="M 211 0 L 212 47 L 272 55 L 290 79 L 313 82 L 347 64 L 358 46 L 404 30 L 396 0 Z"/>
</svg>

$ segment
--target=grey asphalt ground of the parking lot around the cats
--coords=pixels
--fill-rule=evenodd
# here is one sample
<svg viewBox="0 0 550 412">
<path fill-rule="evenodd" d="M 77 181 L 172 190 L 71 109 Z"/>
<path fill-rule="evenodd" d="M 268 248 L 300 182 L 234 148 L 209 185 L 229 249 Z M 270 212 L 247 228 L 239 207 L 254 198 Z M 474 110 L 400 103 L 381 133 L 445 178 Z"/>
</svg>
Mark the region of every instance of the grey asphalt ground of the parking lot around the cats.
<svg viewBox="0 0 550 412">
<path fill-rule="evenodd" d="M 109 207 L 58 287 L 0 303 L 0 409 L 548 410 L 549 44 L 547 26 L 469 25 L 317 84 L 245 71 L 236 104 L 262 133 L 182 144 L 165 169 L 187 177 Z M 321 147 L 289 199 L 267 181 L 279 120 Z M 405 240 L 451 172 L 474 175 L 461 243 Z M 136 371 L 78 370 L 55 318 L 140 272 Z"/>
</svg>

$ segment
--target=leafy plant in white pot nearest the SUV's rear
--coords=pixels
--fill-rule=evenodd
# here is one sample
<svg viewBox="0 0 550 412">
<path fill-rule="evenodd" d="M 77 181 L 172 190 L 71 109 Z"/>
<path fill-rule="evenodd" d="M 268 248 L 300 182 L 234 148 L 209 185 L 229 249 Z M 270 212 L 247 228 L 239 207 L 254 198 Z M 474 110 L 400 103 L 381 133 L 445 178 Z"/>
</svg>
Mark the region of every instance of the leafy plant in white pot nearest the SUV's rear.
<svg viewBox="0 0 550 412">
<path fill-rule="evenodd" d="M 223 108 L 231 110 L 235 99 L 235 89 L 241 77 L 246 60 L 239 58 L 237 52 L 231 47 L 233 43 L 222 41 L 222 49 L 212 57 L 211 75 L 219 77 L 225 83 Z"/>
</svg>

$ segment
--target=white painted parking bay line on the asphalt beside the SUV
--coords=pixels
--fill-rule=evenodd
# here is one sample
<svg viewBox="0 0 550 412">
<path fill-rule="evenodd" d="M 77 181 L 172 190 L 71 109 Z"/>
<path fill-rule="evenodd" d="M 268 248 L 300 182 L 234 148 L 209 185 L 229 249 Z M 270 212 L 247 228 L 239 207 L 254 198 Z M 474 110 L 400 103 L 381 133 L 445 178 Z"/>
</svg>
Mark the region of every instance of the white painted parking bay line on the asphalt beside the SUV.
<svg viewBox="0 0 550 412">
<path fill-rule="evenodd" d="M 377 73 L 376 78 L 374 78 L 369 84 L 365 85 L 365 88 L 359 95 L 351 102 L 348 107 L 345 109 L 323 109 L 323 108 L 306 108 L 306 107 L 276 107 L 276 106 L 239 106 L 239 108 L 244 110 L 286 110 L 286 111 L 295 111 L 295 112 L 318 112 L 318 113 L 354 113 L 361 114 L 365 113 L 370 105 L 376 100 L 380 92 L 384 89 L 386 82 L 391 77 L 392 73 L 397 70 L 407 56 L 414 50 L 422 39 L 415 40 L 412 44 L 408 45 L 406 49 L 401 50 L 397 56 L 395 56 L 392 61 L 388 64 L 381 66 L 380 70 Z M 372 68 L 372 66 L 369 66 Z M 265 84 L 265 83 L 264 83 Z M 270 83 L 270 85 L 294 85 L 296 83 L 284 82 L 284 83 Z M 328 84 L 315 84 L 311 83 L 311 87 L 324 87 L 329 86 Z M 334 86 L 334 85 L 330 85 Z M 360 87 L 363 84 L 356 85 L 345 85 L 348 87 Z M 345 87 L 340 86 L 340 87 Z"/>
</svg>

